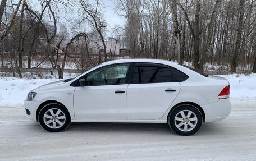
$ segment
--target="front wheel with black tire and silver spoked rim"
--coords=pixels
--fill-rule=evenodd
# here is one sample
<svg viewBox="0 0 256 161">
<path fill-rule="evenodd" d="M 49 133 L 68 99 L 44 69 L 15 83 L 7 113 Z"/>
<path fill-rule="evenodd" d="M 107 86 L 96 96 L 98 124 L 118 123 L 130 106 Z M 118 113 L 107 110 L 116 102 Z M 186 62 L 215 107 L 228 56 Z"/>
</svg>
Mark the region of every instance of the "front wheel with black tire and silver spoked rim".
<svg viewBox="0 0 256 161">
<path fill-rule="evenodd" d="M 48 116 L 52 116 L 50 114 L 50 111 L 52 109 L 52 112 L 54 114 L 57 113 L 58 110 L 60 110 L 60 114 L 58 114 L 59 117 L 53 117 L 51 118 L 45 118 L 44 114 L 48 114 Z M 65 117 L 65 118 L 63 118 Z M 65 107 L 63 107 L 63 105 L 58 104 L 58 103 L 49 103 L 44 105 L 44 107 L 41 109 L 41 111 L 39 112 L 39 122 L 40 125 L 47 131 L 49 132 L 61 132 L 66 130 L 66 128 L 70 125 L 71 119 L 70 119 L 70 114 L 68 113 L 67 109 Z M 59 118 L 59 119 L 58 119 Z M 63 119 L 61 119 L 63 118 Z M 46 124 L 45 122 L 50 121 L 50 119 L 52 120 L 51 123 Z M 56 122 L 57 121 L 57 122 Z M 58 121 L 60 121 L 61 123 L 63 123 L 63 125 L 58 124 Z M 53 128 L 53 122 L 54 125 L 56 127 Z M 51 127 L 52 124 L 52 127 Z"/>
</svg>

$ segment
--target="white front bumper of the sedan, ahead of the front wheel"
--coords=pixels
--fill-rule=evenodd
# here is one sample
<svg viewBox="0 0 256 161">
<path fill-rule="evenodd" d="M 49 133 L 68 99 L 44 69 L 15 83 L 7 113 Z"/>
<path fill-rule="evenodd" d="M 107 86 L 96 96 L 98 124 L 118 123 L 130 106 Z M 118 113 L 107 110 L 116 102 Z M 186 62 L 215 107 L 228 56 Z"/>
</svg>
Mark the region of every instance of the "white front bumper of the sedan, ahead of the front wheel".
<svg viewBox="0 0 256 161">
<path fill-rule="evenodd" d="M 24 100 L 24 107 L 25 109 L 27 109 L 30 114 L 26 114 L 26 117 L 33 120 L 33 121 L 37 121 L 36 120 L 36 109 L 39 107 L 40 105 L 40 102 L 37 102 L 37 101 L 34 101 L 34 100 L 31 100 L 31 101 L 28 101 L 28 100 Z"/>
</svg>

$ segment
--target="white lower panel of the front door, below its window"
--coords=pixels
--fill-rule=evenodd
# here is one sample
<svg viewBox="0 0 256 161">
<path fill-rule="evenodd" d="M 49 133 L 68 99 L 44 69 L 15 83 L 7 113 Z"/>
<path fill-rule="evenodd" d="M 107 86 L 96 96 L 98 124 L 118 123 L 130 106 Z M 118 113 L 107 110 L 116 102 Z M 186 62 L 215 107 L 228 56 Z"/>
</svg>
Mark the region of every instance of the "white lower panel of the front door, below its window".
<svg viewBox="0 0 256 161">
<path fill-rule="evenodd" d="M 122 84 L 77 87 L 74 93 L 75 118 L 126 119 L 127 86 Z M 116 94 L 117 90 L 125 93 Z"/>
</svg>

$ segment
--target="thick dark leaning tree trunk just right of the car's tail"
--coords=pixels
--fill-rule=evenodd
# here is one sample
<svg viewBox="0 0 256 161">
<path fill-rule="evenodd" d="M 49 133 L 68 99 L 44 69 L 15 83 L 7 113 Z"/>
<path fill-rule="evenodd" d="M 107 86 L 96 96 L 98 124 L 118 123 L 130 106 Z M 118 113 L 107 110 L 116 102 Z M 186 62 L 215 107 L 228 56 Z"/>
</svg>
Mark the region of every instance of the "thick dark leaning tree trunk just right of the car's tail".
<svg viewBox="0 0 256 161">
<path fill-rule="evenodd" d="M 231 72 L 236 71 L 237 67 L 237 58 L 239 55 L 240 42 L 241 42 L 241 30 L 243 25 L 243 17 L 244 17 L 244 0 L 239 1 L 239 10 L 237 14 L 236 21 L 236 33 L 235 33 L 235 44 L 234 44 L 234 56 L 231 61 Z"/>
</svg>

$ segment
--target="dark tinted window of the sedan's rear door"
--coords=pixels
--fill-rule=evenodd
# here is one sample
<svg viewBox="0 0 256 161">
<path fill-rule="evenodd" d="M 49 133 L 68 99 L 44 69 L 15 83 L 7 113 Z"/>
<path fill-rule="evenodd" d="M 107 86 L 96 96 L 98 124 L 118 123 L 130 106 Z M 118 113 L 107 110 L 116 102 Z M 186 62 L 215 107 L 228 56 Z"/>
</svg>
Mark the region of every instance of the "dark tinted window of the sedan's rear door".
<svg viewBox="0 0 256 161">
<path fill-rule="evenodd" d="M 161 66 L 135 66 L 133 83 L 176 82 L 170 68 Z"/>
</svg>

